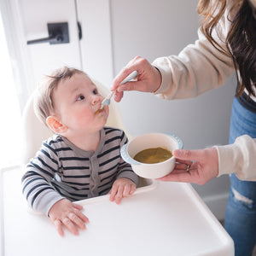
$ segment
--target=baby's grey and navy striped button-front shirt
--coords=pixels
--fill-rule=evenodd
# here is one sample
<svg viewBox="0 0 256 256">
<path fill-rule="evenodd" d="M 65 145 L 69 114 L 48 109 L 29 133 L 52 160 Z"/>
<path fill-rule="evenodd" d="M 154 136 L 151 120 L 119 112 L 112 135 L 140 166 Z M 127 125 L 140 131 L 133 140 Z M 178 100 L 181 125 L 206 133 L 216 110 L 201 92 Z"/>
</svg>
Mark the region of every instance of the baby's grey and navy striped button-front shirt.
<svg viewBox="0 0 256 256">
<path fill-rule="evenodd" d="M 130 178 L 137 185 L 137 175 L 120 156 L 125 143 L 125 132 L 111 127 L 101 130 L 96 152 L 77 148 L 60 135 L 50 137 L 27 164 L 22 177 L 28 204 L 47 215 L 63 197 L 79 201 L 108 194 L 119 177 Z"/>
</svg>

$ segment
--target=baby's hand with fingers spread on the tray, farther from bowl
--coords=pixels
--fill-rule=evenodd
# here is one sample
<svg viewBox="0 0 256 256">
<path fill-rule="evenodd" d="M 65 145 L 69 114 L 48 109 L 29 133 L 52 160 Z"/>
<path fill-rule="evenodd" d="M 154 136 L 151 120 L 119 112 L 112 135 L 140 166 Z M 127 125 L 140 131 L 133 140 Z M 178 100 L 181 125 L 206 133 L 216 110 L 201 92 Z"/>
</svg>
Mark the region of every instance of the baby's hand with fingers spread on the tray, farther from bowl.
<svg viewBox="0 0 256 256">
<path fill-rule="evenodd" d="M 85 224 L 89 219 L 80 212 L 82 206 L 74 204 L 67 199 L 61 199 L 49 209 L 49 218 L 55 224 L 55 228 L 60 236 L 64 236 L 62 225 L 69 230 L 73 235 L 79 235 L 79 229 L 84 230 Z"/>
</svg>

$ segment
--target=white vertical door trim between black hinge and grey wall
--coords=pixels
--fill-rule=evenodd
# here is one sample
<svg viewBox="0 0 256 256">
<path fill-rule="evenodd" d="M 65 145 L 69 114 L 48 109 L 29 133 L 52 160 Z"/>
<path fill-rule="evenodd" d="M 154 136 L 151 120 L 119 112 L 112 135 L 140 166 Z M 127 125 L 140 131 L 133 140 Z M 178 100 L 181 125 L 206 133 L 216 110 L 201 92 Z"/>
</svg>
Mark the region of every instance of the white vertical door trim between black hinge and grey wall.
<svg viewBox="0 0 256 256">
<path fill-rule="evenodd" d="M 83 68 L 103 84 L 113 80 L 111 17 L 106 0 L 76 0 L 77 14 L 82 24 L 80 40 Z M 99 8 L 101 7 L 101 8 Z"/>
</svg>

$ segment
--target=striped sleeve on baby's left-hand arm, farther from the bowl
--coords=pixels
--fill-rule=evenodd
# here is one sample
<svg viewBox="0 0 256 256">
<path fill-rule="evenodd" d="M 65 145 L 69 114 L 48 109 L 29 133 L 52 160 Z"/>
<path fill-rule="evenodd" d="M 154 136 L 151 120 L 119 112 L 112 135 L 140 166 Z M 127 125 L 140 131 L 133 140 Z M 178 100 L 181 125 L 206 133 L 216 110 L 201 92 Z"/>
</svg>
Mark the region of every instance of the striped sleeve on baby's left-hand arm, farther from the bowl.
<svg viewBox="0 0 256 256">
<path fill-rule="evenodd" d="M 58 160 L 54 148 L 46 142 L 27 164 L 22 177 L 22 192 L 30 207 L 48 216 L 49 209 L 63 197 L 53 189 L 50 181 L 58 171 Z"/>
</svg>

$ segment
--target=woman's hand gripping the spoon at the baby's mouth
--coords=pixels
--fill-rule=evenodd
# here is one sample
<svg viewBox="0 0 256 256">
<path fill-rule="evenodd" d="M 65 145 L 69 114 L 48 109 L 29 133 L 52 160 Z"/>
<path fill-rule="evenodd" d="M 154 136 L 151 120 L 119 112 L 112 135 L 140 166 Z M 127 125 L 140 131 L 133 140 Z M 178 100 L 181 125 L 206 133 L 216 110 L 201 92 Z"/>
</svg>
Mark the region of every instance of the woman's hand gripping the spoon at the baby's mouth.
<svg viewBox="0 0 256 256">
<path fill-rule="evenodd" d="M 120 83 L 133 71 L 137 70 L 137 79 L 120 85 Z M 152 66 L 146 59 L 140 56 L 131 60 L 126 67 L 113 79 L 111 90 L 116 90 L 114 99 L 120 102 L 125 90 L 139 90 L 143 92 L 154 92 L 161 84 L 159 70 Z"/>
</svg>

